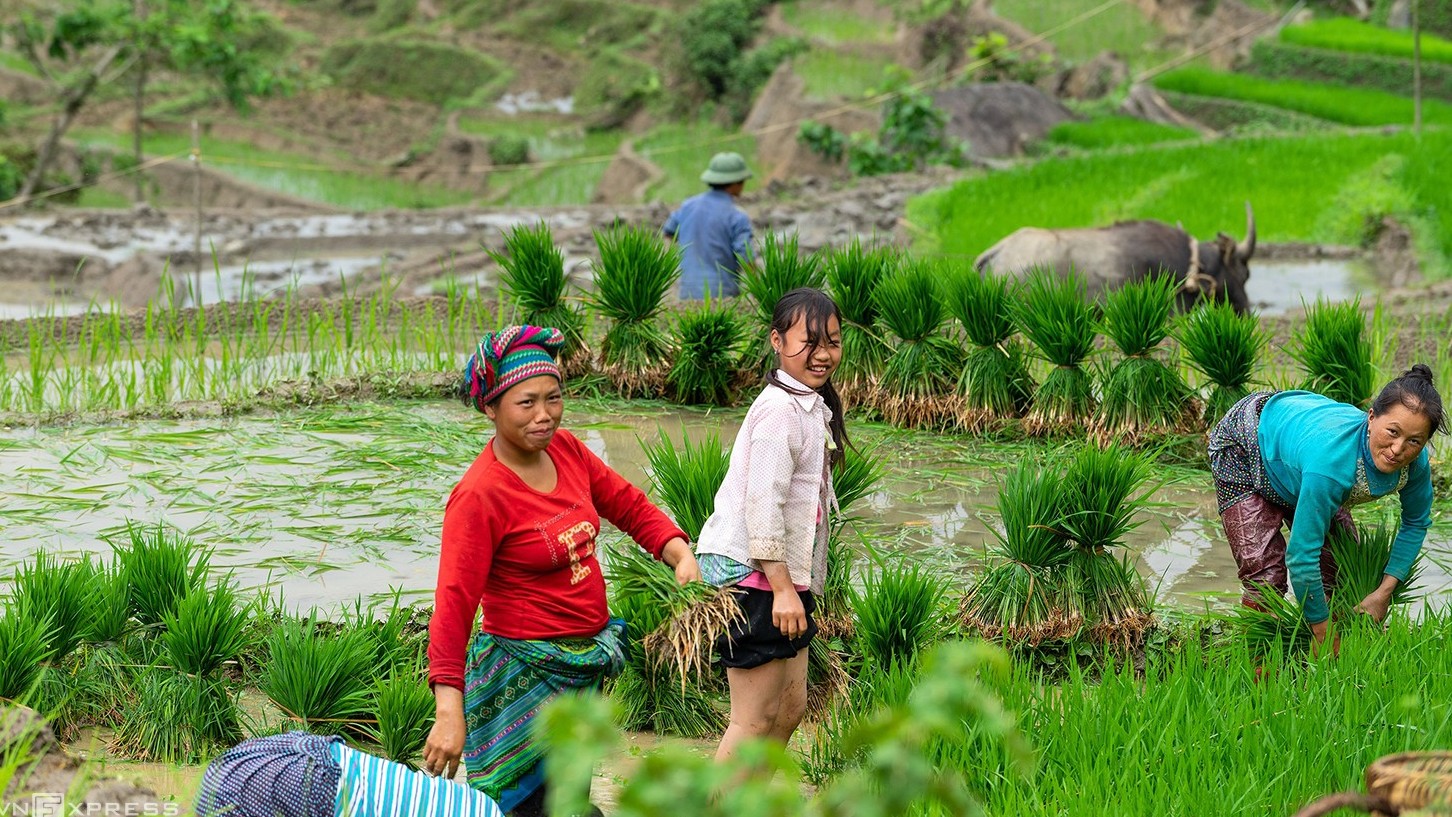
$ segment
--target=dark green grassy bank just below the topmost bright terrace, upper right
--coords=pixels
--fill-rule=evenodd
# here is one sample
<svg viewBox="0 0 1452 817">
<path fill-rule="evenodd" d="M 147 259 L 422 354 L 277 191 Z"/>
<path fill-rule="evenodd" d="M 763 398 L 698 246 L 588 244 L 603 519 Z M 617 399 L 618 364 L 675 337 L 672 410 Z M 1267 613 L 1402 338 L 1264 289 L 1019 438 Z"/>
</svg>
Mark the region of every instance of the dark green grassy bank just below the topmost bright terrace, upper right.
<svg viewBox="0 0 1452 817">
<path fill-rule="evenodd" d="M 1250 71 L 1272 78 L 1340 83 L 1395 94 L 1411 93 L 1410 59 L 1302 48 L 1273 39 L 1256 41 L 1252 46 Z M 1422 93 L 1452 100 L 1452 65 L 1423 62 Z"/>
</svg>

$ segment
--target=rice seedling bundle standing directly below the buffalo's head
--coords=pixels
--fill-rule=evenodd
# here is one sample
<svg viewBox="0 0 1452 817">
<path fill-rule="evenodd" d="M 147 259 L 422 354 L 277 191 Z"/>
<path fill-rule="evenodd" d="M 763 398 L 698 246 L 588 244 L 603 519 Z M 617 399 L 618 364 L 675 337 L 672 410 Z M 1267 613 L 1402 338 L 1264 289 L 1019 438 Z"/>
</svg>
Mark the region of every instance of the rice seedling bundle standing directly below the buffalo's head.
<svg viewBox="0 0 1452 817">
<path fill-rule="evenodd" d="M 1255 315 L 1240 315 L 1228 303 L 1195 309 L 1180 322 L 1178 335 L 1189 364 L 1210 380 L 1204 419 L 1215 422 L 1250 393 L 1256 363 L 1270 335 Z"/>
</svg>

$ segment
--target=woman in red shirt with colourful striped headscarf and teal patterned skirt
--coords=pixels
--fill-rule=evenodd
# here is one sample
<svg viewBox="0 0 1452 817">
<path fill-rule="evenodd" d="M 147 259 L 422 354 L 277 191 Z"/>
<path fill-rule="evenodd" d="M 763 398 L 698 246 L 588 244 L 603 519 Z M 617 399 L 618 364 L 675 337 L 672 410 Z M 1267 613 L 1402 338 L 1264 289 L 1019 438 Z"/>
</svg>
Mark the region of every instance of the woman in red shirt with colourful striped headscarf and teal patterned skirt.
<svg viewBox="0 0 1452 817">
<path fill-rule="evenodd" d="M 562 691 L 598 689 L 624 662 L 595 559 L 600 518 L 680 582 L 700 579 L 680 527 L 559 428 L 560 345 L 558 329 L 510 327 L 465 367 L 463 399 L 494 421 L 494 438 L 449 496 L 428 624 L 425 769 L 453 776 L 462 756 L 469 785 L 517 816 L 544 807 L 534 714 Z"/>
</svg>

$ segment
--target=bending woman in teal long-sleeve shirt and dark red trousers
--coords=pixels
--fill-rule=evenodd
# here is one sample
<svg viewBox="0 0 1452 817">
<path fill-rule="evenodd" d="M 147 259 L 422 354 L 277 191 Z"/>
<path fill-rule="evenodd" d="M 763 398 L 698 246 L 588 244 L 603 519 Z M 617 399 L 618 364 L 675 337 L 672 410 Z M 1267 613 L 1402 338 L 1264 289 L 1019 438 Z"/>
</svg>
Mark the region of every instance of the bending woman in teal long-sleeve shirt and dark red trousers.
<svg viewBox="0 0 1452 817">
<path fill-rule="evenodd" d="M 1401 527 L 1391 559 L 1381 586 L 1358 607 L 1385 618 L 1432 524 L 1426 444 L 1437 431 L 1446 431 L 1442 396 L 1420 363 L 1365 412 L 1311 392 L 1256 392 L 1237 402 L 1210 432 L 1210 469 L 1241 604 L 1259 607 L 1257 583 L 1285 594 L 1289 578 L 1316 641 L 1326 640 L 1336 563 L 1323 543 L 1333 524 L 1355 533 L 1347 508 L 1397 492 Z"/>
</svg>

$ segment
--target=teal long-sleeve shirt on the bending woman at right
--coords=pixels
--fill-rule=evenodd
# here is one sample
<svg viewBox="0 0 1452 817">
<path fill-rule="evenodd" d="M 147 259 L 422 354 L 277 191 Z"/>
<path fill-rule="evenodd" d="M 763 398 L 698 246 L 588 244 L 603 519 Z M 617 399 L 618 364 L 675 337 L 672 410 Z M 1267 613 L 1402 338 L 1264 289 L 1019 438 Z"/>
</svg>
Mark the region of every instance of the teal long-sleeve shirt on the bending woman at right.
<svg viewBox="0 0 1452 817">
<path fill-rule="evenodd" d="M 1366 412 L 1313 392 L 1279 392 L 1260 411 L 1260 457 L 1270 486 L 1292 504 L 1295 517 L 1285 547 L 1285 567 L 1305 620 L 1326 621 L 1330 611 L 1321 580 L 1321 546 L 1342 505 L 1381 499 L 1398 490 L 1401 475 L 1381 473 L 1371 457 Z M 1362 467 L 1358 469 L 1358 463 Z M 1401 485 L 1401 527 L 1385 573 L 1407 579 L 1432 524 L 1432 466 L 1427 450 L 1407 466 Z M 1362 490 L 1356 490 L 1361 482 Z"/>
</svg>

